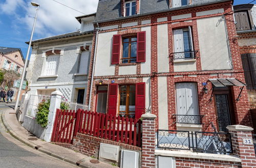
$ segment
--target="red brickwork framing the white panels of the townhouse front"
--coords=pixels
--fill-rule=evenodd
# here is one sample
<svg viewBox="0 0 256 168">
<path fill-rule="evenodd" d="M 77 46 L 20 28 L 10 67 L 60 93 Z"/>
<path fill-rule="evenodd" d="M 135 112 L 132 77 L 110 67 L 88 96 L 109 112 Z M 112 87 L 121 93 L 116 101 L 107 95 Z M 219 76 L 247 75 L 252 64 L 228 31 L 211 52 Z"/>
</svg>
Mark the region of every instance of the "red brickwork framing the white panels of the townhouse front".
<svg viewBox="0 0 256 168">
<path fill-rule="evenodd" d="M 176 82 L 197 82 L 198 87 L 198 102 L 199 102 L 199 111 L 200 115 L 203 115 L 202 120 L 202 130 L 203 131 L 212 131 L 212 128 L 209 126 L 210 122 L 214 122 L 217 125 L 217 116 L 216 116 L 216 105 L 215 99 L 210 100 L 211 96 L 211 83 L 208 81 L 210 78 L 237 78 L 238 80 L 245 82 L 243 66 L 240 56 L 240 48 L 238 45 L 238 38 L 236 33 L 236 27 L 234 25 L 233 15 L 231 12 L 231 1 L 224 3 L 211 4 L 201 7 L 194 7 L 189 9 L 181 9 L 176 11 L 169 11 L 154 15 L 146 15 L 141 17 L 134 17 L 130 19 L 116 20 L 111 22 L 99 23 L 99 26 L 108 26 L 108 25 L 119 25 L 118 29 L 100 31 L 99 33 L 118 31 L 118 34 L 134 34 L 138 31 L 141 31 L 141 27 L 151 26 L 151 74 L 141 74 L 141 63 L 131 63 L 130 65 L 136 65 L 136 74 L 134 75 L 119 75 L 119 67 L 126 66 L 127 64 L 117 64 L 115 65 L 115 75 L 113 76 L 95 76 L 93 81 L 93 90 L 92 90 L 92 101 L 91 101 L 91 110 L 95 110 L 95 101 L 96 101 L 96 86 L 98 85 L 98 80 L 103 80 L 103 84 L 109 85 L 112 80 L 115 80 L 115 83 L 125 84 L 125 83 L 136 83 L 143 81 L 143 77 L 151 78 L 151 113 L 156 115 L 156 129 L 159 127 L 159 117 L 158 114 L 158 77 L 166 76 L 167 77 L 167 109 L 168 109 L 168 129 L 176 129 L 175 119 L 173 115 L 176 114 L 176 96 L 175 96 L 175 83 Z M 211 14 L 206 16 L 196 16 L 196 12 L 213 10 L 224 8 L 226 27 L 228 33 L 228 40 L 230 45 L 230 53 L 232 58 L 232 69 L 230 70 L 202 70 L 201 57 L 200 57 L 200 47 L 199 47 L 199 38 L 198 38 L 198 29 L 197 29 L 197 19 L 221 16 L 223 14 Z M 191 13 L 191 18 L 172 20 L 172 16 L 182 15 Z M 167 21 L 157 22 L 157 18 L 167 17 Z M 142 20 L 151 19 L 150 24 L 141 24 Z M 189 21 L 191 20 L 191 21 Z M 138 21 L 138 25 L 131 27 L 121 27 L 122 23 L 129 23 L 133 21 Z M 189 21 L 189 22 L 185 22 Z M 173 24 L 174 22 L 179 22 Z M 177 28 L 191 26 L 193 30 L 193 41 L 194 48 L 198 50 L 196 56 L 196 71 L 186 71 L 186 72 L 174 72 L 174 63 L 169 59 L 169 72 L 158 73 L 158 42 L 157 42 L 157 29 L 159 24 L 166 24 L 168 27 L 168 52 L 172 53 L 174 51 L 173 45 L 173 30 Z M 137 30 L 136 30 L 137 29 Z M 147 41 L 147 43 L 149 43 Z M 90 94 L 90 84 L 92 77 L 92 67 L 93 67 L 93 57 L 94 57 L 94 46 L 95 46 L 95 36 L 93 40 L 92 56 L 90 61 L 90 72 L 89 72 L 89 81 L 88 81 L 88 90 L 87 90 L 87 100 L 86 103 L 89 104 L 89 94 Z M 97 51 L 96 51 L 97 52 Z M 97 68 L 97 67 L 96 67 Z M 179 77 L 177 77 L 179 75 Z M 121 78 L 121 80 L 119 80 Z M 124 78 L 124 79 L 123 79 Z M 126 80 L 133 80 L 133 82 L 127 82 Z M 208 94 L 203 92 L 202 82 L 207 82 Z M 252 126 L 251 115 L 249 113 L 249 102 L 247 97 L 247 90 L 244 89 L 242 92 L 242 97 L 240 101 L 236 101 L 240 93 L 239 87 L 231 87 L 232 95 L 232 106 L 233 113 L 236 119 L 236 124 L 242 124 L 247 126 Z M 118 104 L 117 104 L 118 105 Z M 108 107 L 107 107 L 108 108 Z M 107 110 L 108 111 L 108 110 Z"/>
</svg>

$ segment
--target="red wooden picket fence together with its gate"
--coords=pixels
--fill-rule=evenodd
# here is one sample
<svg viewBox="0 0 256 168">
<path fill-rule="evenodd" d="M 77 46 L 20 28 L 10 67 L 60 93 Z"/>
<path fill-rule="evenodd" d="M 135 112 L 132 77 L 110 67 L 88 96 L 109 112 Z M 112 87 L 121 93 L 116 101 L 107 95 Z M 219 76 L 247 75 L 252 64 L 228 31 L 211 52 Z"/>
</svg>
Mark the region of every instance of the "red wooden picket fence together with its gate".
<svg viewBox="0 0 256 168">
<path fill-rule="evenodd" d="M 77 132 L 141 147 L 139 119 L 116 117 L 78 109 L 57 109 L 51 141 L 72 144 Z"/>
</svg>

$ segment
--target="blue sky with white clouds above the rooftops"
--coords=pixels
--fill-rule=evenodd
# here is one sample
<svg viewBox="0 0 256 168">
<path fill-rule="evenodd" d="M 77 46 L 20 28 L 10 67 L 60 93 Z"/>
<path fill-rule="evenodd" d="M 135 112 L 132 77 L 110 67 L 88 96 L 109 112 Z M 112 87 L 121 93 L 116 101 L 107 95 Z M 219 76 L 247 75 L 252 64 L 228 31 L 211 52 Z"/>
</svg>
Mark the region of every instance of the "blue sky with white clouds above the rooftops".
<svg viewBox="0 0 256 168">
<path fill-rule="evenodd" d="M 98 5 L 98 0 L 33 1 L 40 4 L 33 40 L 79 30 L 80 23 L 75 17 L 96 12 Z M 30 2 L 30 0 L 0 0 L 0 47 L 20 48 L 24 57 L 28 50 L 25 42 L 30 40 L 36 13 L 36 7 Z M 234 5 L 250 2 L 252 0 L 234 0 Z M 256 1 L 252 4 L 256 4 Z"/>
</svg>

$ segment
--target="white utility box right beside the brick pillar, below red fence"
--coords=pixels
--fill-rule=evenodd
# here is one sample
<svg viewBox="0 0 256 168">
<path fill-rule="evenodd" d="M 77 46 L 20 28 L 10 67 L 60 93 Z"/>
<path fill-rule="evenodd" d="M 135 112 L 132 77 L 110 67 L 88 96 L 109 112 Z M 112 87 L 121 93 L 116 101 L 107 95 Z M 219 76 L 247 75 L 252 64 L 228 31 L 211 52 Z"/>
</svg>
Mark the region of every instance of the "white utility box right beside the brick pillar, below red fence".
<svg viewBox="0 0 256 168">
<path fill-rule="evenodd" d="M 121 168 L 138 168 L 139 152 L 121 150 Z"/>
</svg>

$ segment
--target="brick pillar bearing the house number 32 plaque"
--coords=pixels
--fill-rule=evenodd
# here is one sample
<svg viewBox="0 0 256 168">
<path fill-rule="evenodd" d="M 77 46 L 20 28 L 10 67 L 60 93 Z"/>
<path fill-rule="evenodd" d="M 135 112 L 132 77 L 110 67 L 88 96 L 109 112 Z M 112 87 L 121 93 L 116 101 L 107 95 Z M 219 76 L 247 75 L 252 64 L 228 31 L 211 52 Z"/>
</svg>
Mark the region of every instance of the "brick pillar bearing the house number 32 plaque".
<svg viewBox="0 0 256 168">
<path fill-rule="evenodd" d="M 243 125 L 227 126 L 231 134 L 233 153 L 242 160 L 242 167 L 256 167 L 255 151 L 252 142 L 251 127 Z"/>
</svg>

